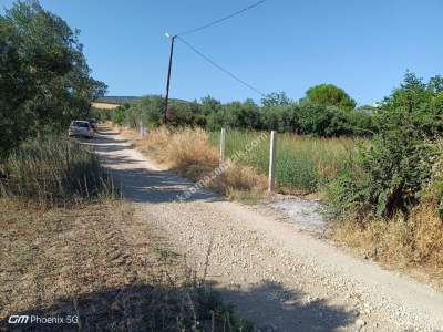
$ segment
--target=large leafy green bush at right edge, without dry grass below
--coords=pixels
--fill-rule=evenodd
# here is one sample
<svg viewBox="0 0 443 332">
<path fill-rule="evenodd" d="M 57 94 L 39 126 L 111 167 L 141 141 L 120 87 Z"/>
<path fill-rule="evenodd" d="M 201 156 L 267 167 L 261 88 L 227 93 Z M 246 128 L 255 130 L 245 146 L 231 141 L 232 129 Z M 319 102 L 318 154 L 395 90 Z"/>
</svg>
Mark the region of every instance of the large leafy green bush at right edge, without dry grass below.
<svg viewBox="0 0 443 332">
<path fill-rule="evenodd" d="M 408 215 L 421 201 L 442 157 L 437 82 L 434 77 L 423 84 L 408 72 L 385 98 L 374 116 L 379 134 L 361 149 L 356 172 L 329 185 L 330 201 L 339 211 L 390 218 L 396 212 Z"/>
</svg>

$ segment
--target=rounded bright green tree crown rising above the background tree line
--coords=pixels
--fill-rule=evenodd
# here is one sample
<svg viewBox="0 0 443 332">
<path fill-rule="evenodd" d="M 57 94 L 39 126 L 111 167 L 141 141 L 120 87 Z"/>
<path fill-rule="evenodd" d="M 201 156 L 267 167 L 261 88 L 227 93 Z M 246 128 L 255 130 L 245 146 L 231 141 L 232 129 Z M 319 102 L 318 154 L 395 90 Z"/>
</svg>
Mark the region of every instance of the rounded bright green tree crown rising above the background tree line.
<svg viewBox="0 0 443 332">
<path fill-rule="evenodd" d="M 344 90 L 333 84 L 320 84 L 308 89 L 306 97 L 301 102 L 323 106 L 337 106 L 343 111 L 350 111 L 356 107 L 356 101 Z"/>
</svg>

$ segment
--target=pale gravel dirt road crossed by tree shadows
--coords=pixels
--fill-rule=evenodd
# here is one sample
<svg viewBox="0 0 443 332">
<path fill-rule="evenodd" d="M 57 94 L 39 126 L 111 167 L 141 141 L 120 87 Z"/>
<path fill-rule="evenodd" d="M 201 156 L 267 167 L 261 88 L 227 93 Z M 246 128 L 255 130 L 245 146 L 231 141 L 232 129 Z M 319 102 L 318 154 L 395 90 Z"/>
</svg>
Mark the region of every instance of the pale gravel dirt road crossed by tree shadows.
<svg viewBox="0 0 443 332">
<path fill-rule="evenodd" d="M 112 132 L 92 144 L 137 218 L 200 276 L 206 270 L 258 331 L 443 331 L 443 294 L 431 287 L 353 258 L 259 208 L 202 190 L 177 201 L 192 183 Z"/>
</svg>

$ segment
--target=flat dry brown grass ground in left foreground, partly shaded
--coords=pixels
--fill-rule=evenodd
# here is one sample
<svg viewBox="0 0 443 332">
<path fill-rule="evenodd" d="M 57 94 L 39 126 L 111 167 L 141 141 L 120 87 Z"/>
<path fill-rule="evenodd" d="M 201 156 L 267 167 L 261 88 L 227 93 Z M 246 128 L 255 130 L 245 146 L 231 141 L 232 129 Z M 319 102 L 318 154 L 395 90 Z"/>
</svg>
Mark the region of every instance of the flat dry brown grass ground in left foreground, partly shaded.
<svg viewBox="0 0 443 332">
<path fill-rule="evenodd" d="M 1 331 L 11 314 L 79 315 L 52 331 L 249 331 L 122 203 L 42 211 L 1 198 L 0 216 Z"/>
</svg>

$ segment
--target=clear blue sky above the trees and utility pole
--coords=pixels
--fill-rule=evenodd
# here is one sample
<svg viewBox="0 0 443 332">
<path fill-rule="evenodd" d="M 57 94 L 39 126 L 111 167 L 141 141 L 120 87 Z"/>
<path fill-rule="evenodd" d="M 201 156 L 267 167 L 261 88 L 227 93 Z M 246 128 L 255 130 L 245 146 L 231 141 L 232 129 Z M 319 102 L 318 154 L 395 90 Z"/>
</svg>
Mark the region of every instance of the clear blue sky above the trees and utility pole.
<svg viewBox="0 0 443 332">
<path fill-rule="evenodd" d="M 0 8 L 13 1 L 0 0 Z M 94 77 L 110 95 L 164 94 L 168 40 L 255 0 L 41 0 L 81 30 Z M 215 62 L 266 93 L 299 98 L 333 83 L 371 104 L 399 85 L 406 69 L 443 74 L 441 0 L 268 0 L 185 37 Z M 224 102 L 260 95 L 233 81 L 177 41 L 171 96 Z"/>
</svg>

